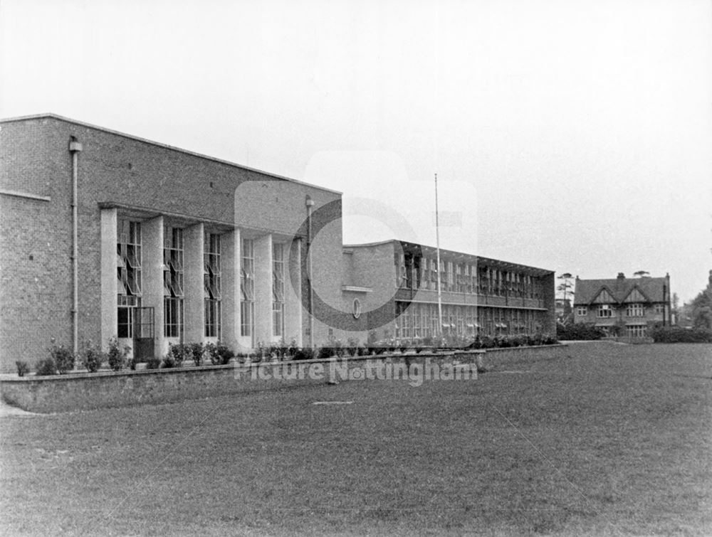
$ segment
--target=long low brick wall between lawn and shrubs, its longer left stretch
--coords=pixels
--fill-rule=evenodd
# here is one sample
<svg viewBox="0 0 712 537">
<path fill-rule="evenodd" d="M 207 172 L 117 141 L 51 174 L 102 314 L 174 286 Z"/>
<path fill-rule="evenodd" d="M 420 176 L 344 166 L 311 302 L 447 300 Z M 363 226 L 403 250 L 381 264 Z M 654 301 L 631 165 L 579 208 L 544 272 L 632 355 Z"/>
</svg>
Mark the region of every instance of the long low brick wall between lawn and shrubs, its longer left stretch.
<svg viewBox="0 0 712 537">
<path fill-rule="evenodd" d="M 201 366 L 147 371 L 70 373 L 25 376 L 0 380 L 2 398 L 10 405 L 36 413 L 91 410 L 145 403 L 170 403 L 186 399 L 229 395 L 281 386 L 304 386 L 328 381 L 364 378 L 365 368 L 377 364 L 433 363 L 454 371 L 466 368 L 476 378 L 476 356 L 481 351 L 458 353 L 354 356 L 337 361 L 304 360 L 251 365 Z M 300 368 L 302 373 L 300 374 Z M 317 373 L 323 372 L 321 376 Z M 422 371 L 422 370 L 421 370 Z M 335 377 L 331 373 L 334 373 Z M 286 378 L 287 377 L 287 378 Z"/>
</svg>

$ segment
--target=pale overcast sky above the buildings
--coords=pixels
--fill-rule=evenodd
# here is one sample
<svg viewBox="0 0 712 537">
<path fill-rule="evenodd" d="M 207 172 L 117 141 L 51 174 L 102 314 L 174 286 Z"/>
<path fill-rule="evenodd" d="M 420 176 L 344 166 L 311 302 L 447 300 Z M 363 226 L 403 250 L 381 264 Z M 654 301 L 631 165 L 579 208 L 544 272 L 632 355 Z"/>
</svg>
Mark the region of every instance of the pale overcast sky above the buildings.
<svg viewBox="0 0 712 537">
<path fill-rule="evenodd" d="M 0 0 L 0 117 L 344 193 L 346 243 L 712 268 L 712 2 Z M 373 201 L 379 203 L 374 203 Z"/>
</svg>

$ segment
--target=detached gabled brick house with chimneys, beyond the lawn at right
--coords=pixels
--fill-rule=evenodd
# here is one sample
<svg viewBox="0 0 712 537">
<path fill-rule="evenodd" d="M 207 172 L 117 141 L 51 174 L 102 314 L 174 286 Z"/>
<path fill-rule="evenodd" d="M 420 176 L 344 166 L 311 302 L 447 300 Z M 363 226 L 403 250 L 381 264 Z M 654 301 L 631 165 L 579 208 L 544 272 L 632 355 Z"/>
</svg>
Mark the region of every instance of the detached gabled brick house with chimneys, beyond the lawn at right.
<svg viewBox="0 0 712 537">
<path fill-rule="evenodd" d="M 592 323 L 610 335 L 644 337 L 671 324 L 670 275 L 609 280 L 576 278 L 574 322 Z"/>
</svg>

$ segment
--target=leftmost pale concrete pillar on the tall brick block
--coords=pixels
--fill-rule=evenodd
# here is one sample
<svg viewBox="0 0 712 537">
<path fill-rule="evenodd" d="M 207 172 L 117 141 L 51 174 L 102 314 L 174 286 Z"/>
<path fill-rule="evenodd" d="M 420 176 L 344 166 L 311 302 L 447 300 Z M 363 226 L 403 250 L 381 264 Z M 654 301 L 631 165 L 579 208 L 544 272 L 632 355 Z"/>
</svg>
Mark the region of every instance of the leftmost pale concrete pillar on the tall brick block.
<svg viewBox="0 0 712 537">
<path fill-rule="evenodd" d="M 101 346 L 108 350 L 108 341 L 117 332 L 116 243 L 117 211 L 101 210 Z"/>
</svg>

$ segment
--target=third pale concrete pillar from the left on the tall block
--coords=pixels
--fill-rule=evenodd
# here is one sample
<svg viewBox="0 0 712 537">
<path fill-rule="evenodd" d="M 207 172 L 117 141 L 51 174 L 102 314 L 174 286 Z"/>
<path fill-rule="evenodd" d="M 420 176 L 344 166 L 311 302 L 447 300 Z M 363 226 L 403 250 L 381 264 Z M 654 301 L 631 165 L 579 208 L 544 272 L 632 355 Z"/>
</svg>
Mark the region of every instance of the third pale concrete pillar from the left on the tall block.
<svg viewBox="0 0 712 537">
<path fill-rule="evenodd" d="M 202 223 L 183 230 L 183 326 L 186 343 L 201 343 L 205 335 L 204 234 Z"/>
</svg>

